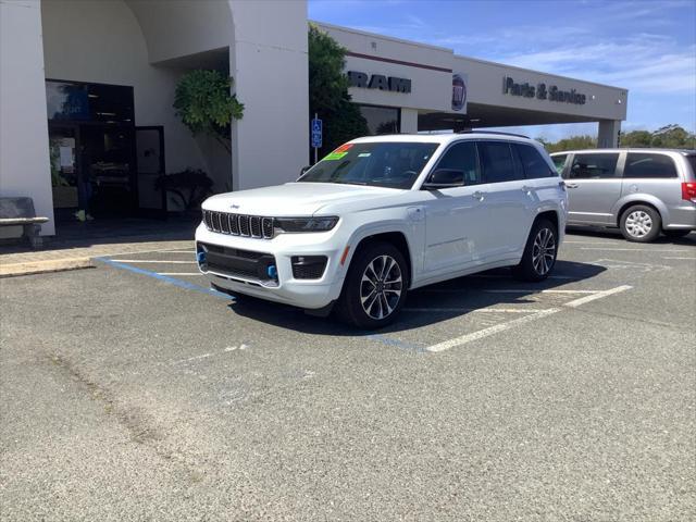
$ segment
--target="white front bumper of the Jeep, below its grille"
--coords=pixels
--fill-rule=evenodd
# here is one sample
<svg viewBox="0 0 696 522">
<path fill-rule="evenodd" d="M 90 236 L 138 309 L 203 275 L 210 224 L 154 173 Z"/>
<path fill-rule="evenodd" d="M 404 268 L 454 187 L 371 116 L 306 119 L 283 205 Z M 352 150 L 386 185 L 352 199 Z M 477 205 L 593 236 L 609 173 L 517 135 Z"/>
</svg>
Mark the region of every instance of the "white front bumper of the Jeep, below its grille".
<svg viewBox="0 0 696 522">
<path fill-rule="evenodd" d="M 257 252 L 253 258 L 262 264 L 249 264 L 249 270 L 227 270 L 220 264 L 207 266 L 199 262 L 199 271 L 210 283 L 233 295 L 239 293 L 310 310 L 324 308 L 340 295 L 345 277 L 340 256 L 345 246 L 336 245 L 332 232 L 278 234 L 273 239 L 260 239 L 214 233 L 201 224 L 196 229 L 196 250 L 207 245 Z M 295 278 L 294 256 L 325 256 L 323 275 L 316 279 Z M 268 271 L 271 264 L 275 277 Z"/>
</svg>

